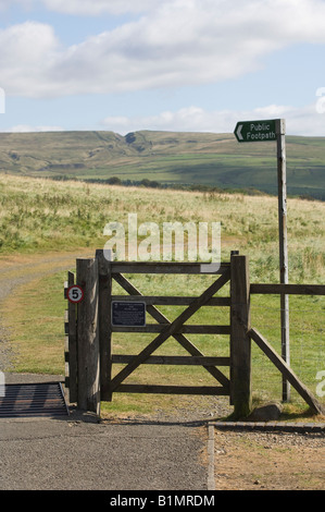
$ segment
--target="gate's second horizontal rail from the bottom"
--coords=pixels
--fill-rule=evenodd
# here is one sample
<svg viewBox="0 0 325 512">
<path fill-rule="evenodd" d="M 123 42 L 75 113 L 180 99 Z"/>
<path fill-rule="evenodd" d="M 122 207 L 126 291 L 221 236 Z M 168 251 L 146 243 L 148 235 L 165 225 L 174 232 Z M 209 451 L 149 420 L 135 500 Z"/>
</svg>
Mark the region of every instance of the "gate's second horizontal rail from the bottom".
<svg viewBox="0 0 325 512">
<path fill-rule="evenodd" d="M 136 355 L 114 354 L 112 363 L 128 364 Z M 190 366 L 229 366 L 229 357 L 193 355 L 150 355 L 145 365 L 190 365 Z"/>
</svg>

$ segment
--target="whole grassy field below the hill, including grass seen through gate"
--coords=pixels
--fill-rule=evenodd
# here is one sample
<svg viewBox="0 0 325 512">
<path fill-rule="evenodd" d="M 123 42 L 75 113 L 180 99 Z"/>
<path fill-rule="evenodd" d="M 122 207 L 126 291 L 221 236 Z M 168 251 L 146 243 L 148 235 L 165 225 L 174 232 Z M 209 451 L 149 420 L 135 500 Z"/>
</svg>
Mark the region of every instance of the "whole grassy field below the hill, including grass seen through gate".
<svg viewBox="0 0 325 512">
<path fill-rule="evenodd" d="M 53 182 L 0 175 L 1 232 L 0 263 L 35 254 L 102 248 L 108 237 L 105 223 L 127 225 L 129 212 L 138 222 L 220 221 L 222 260 L 229 260 L 232 249 L 250 259 L 251 282 L 278 282 L 277 199 L 243 194 L 162 191 L 121 187 L 80 182 Z M 324 283 L 325 280 L 325 203 L 288 200 L 289 280 L 291 283 Z M 74 270 L 74 268 L 71 268 Z M 68 270 L 68 269 L 66 269 Z M 66 303 L 63 281 L 66 271 L 35 278 L 20 287 L 2 305 L 4 324 L 11 329 L 17 371 L 64 374 L 63 317 Z M 130 276 L 147 294 L 195 294 L 207 285 L 209 277 Z M 117 290 L 116 290 L 117 291 Z M 223 294 L 226 294 L 226 288 Z M 51 297 L 49 300 L 49 296 Z M 173 319 L 182 308 L 161 310 Z M 324 361 L 325 297 L 290 297 L 291 365 L 313 392 L 317 371 Z M 191 324 L 227 324 L 227 308 L 204 308 Z M 279 301 L 276 296 L 252 296 L 252 326 L 279 348 Z M 137 353 L 146 343 L 141 334 L 114 334 L 115 353 Z M 189 337 L 205 355 L 227 355 L 227 337 Z M 183 354 L 173 341 L 159 353 Z M 143 366 L 132 379 L 138 382 L 212 383 L 208 373 L 188 367 L 162 373 L 160 367 Z M 205 375 L 207 374 L 207 375 Z M 207 380 L 208 378 L 208 380 Z M 280 377 L 258 348 L 253 348 L 253 389 L 260 400 L 280 399 Z M 293 391 L 293 401 L 300 400 Z M 160 403 L 175 403 L 175 398 L 160 398 Z M 161 401 L 162 400 L 162 401 Z M 324 399 L 323 399 L 324 400 Z M 116 395 L 108 407 L 121 411 L 148 411 L 157 398 Z"/>
</svg>

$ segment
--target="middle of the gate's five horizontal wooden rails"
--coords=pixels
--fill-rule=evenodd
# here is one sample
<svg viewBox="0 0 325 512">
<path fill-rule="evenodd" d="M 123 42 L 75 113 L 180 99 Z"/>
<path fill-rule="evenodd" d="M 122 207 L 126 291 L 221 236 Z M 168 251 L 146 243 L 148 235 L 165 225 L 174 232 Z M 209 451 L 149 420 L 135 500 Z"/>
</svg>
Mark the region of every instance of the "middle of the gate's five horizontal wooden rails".
<svg viewBox="0 0 325 512">
<path fill-rule="evenodd" d="M 113 326 L 112 332 L 163 332 L 171 324 L 146 327 Z M 230 326 L 179 326 L 173 334 L 230 334 Z M 171 334 L 172 336 L 172 334 Z"/>
</svg>

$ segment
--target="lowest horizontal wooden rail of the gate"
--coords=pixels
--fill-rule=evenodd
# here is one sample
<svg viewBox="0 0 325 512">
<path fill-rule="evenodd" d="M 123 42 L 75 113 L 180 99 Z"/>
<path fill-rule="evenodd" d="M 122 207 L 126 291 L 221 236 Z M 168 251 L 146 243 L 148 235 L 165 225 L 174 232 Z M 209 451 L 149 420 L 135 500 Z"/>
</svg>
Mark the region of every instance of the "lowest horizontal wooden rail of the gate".
<svg viewBox="0 0 325 512">
<path fill-rule="evenodd" d="M 151 393 L 151 394 L 196 394 L 227 397 L 229 390 L 222 386 L 150 386 L 120 385 L 115 393 Z"/>
</svg>

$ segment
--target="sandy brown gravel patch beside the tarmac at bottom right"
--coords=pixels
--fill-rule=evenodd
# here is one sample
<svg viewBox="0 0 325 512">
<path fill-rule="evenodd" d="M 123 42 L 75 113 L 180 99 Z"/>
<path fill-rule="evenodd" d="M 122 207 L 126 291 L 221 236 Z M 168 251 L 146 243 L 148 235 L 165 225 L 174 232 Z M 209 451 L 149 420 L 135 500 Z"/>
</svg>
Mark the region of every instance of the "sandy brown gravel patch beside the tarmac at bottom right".
<svg viewBox="0 0 325 512">
<path fill-rule="evenodd" d="M 215 490 L 324 490 L 324 432 L 215 428 Z"/>
</svg>

